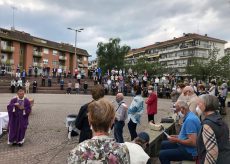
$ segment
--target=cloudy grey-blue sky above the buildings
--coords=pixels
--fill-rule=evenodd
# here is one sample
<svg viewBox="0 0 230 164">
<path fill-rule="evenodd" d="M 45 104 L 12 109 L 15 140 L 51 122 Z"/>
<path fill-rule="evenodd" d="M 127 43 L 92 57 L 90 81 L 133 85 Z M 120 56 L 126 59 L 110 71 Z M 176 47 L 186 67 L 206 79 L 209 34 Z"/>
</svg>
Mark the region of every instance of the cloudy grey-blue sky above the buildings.
<svg viewBox="0 0 230 164">
<path fill-rule="evenodd" d="M 0 27 L 77 46 L 96 57 L 98 42 L 119 37 L 131 48 L 208 34 L 230 42 L 230 0 L 0 0 Z M 230 47 L 230 43 L 226 44 Z"/>
</svg>

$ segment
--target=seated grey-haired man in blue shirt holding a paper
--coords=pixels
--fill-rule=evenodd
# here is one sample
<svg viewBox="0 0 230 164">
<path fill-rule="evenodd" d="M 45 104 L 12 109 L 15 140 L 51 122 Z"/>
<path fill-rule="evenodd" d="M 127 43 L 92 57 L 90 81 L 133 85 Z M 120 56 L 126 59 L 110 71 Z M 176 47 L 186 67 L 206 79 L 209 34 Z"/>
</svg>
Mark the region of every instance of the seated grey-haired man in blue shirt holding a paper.
<svg viewBox="0 0 230 164">
<path fill-rule="evenodd" d="M 162 164 L 194 160 L 197 156 L 196 138 L 201 128 L 200 120 L 184 101 L 176 103 L 176 112 L 180 117 L 184 117 L 184 121 L 178 136 L 171 135 L 167 141 L 161 143 L 159 159 Z"/>
</svg>

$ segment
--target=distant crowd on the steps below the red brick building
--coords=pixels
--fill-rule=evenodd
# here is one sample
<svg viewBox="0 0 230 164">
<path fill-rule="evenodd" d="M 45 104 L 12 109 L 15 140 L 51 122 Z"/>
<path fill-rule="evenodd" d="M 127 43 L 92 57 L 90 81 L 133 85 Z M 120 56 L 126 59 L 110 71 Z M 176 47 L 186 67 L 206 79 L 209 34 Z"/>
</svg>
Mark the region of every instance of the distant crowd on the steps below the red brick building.
<svg viewBox="0 0 230 164">
<path fill-rule="evenodd" d="M 2 70 L 4 70 L 2 68 Z M 3 71 L 5 75 L 5 71 Z M 13 78 L 10 82 L 10 89 L 11 93 L 17 92 L 19 89 L 25 88 L 26 93 L 30 93 L 30 86 L 32 85 L 32 92 L 37 92 L 38 81 L 37 77 L 39 78 L 39 84 L 41 87 L 52 87 L 53 86 L 53 79 L 57 79 L 57 83 L 60 85 L 60 90 L 65 89 L 65 83 L 67 84 L 66 93 L 80 93 L 80 89 L 86 94 L 88 92 L 88 83 L 87 81 L 83 81 L 82 79 L 85 78 L 84 70 L 78 71 L 75 69 L 74 74 L 71 74 L 70 71 L 66 72 L 63 71 L 61 68 L 53 68 L 50 70 L 48 67 L 44 67 L 40 74 L 38 74 L 38 68 L 30 66 L 28 71 L 26 72 L 25 69 L 20 71 L 20 67 L 18 66 L 16 69 L 15 75 L 11 75 Z M 34 76 L 35 78 L 28 78 Z M 32 79 L 32 80 L 30 80 Z M 66 81 L 66 82 L 65 82 Z"/>
</svg>

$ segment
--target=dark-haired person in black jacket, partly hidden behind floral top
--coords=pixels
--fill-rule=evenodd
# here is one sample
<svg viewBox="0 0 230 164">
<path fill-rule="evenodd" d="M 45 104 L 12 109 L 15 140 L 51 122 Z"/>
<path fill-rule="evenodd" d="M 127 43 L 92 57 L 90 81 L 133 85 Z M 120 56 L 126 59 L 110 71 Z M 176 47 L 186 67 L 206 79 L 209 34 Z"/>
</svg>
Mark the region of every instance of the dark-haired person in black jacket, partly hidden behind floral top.
<svg viewBox="0 0 230 164">
<path fill-rule="evenodd" d="M 92 98 L 93 102 L 94 100 L 99 100 L 100 98 L 103 98 L 105 93 L 104 93 L 104 88 L 101 85 L 95 85 L 92 88 Z M 80 111 L 78 113 L 77 119 L 76 119 L 76 127 L 81 131 L 80 132 L 80 137 L 79 137 L 79 143 L 92 138 L 92 130 L 89 126 L 88 122 L 88 105 L 91 103 L 86 103 L 85 105 L 81 106 Z"/>
</svg>

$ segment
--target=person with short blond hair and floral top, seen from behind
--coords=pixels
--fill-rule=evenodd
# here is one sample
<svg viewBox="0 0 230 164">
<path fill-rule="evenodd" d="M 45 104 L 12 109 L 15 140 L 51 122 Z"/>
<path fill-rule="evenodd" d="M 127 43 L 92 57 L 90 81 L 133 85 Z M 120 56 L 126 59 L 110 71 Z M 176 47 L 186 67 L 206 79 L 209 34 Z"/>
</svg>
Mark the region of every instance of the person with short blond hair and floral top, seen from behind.
<svg viewBox="0 0 230 164">
<path fill-rule="evenodd" d="M 109 136 L 109 130 L 115 118 L 113 105 L 105 99 L 100 99 L 89 104 L 88 109 L 88 120 L 92 127 L 93 138 L 81 142 L 71 150 L 68 164 L 130 163 L 127 146 L 117 143 Z"/>
</svg>

